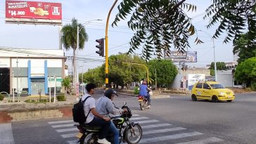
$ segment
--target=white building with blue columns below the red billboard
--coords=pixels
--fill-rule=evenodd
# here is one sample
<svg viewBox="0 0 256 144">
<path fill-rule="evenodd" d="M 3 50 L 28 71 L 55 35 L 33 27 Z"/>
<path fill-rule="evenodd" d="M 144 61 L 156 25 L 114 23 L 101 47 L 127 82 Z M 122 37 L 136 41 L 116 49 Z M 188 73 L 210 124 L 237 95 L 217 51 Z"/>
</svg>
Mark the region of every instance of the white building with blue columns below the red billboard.
<svg viewBox="0 0 256 144">
<path fill-rule="evenodd" d="M 53 91 L 61 92 L 65 77 L 63 50 L 38 50 L 0 47 L 0 92 L 27 91 L 31 95 Z"/>
</svg>

